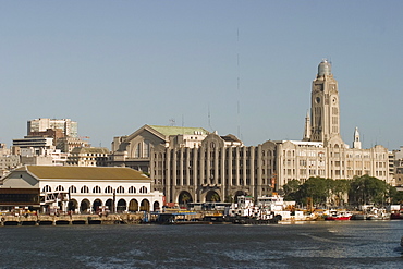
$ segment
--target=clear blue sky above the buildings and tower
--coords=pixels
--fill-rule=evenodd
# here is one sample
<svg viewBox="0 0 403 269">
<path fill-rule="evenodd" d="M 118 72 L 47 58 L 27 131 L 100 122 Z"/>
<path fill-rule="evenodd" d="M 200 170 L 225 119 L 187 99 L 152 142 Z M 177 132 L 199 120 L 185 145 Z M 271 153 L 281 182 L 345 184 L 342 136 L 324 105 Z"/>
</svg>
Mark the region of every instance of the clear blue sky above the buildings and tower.
<svg viewBox="0 0 403 269">
<path fill-rule="evenodd" d="M 93 146 L 145 124 L 302 139 L 322 59 L 341 135 L 403 145 L 403 1 L 0 0 L 0 143 L 72 119 Z"/>
</svg>

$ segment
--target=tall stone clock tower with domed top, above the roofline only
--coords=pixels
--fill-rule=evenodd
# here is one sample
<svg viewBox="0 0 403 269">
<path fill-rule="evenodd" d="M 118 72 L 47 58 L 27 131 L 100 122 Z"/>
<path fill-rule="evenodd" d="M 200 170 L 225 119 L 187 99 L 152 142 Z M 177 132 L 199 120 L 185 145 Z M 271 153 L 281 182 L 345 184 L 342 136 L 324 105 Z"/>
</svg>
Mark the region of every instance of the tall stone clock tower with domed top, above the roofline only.
<svg viewBox="0 0 403 269">
<path fill-rule="evenodd" d="M 338 82 L 327 60 L 319 63 L 312 85 L 310 113 L 310 140 L 325 143 L 333 136 L 340 137 Z"/>
</svg>

